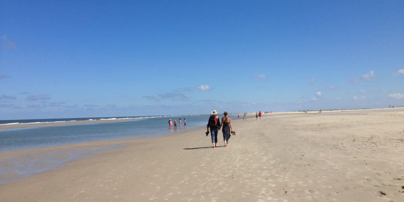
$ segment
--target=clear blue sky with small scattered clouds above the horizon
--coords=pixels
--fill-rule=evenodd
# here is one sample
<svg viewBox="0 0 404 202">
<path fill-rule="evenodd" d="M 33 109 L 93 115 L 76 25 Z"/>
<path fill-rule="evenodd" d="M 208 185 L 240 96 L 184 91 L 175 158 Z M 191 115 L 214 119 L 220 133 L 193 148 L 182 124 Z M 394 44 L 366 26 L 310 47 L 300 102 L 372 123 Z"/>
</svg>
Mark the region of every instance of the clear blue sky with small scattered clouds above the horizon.
<svg viewBox="0 0 404 202">
<path fill-rule="evenodd" d="M 0 119 L 404 105 L 403 1 L 1 1 Z"/>
</svg>

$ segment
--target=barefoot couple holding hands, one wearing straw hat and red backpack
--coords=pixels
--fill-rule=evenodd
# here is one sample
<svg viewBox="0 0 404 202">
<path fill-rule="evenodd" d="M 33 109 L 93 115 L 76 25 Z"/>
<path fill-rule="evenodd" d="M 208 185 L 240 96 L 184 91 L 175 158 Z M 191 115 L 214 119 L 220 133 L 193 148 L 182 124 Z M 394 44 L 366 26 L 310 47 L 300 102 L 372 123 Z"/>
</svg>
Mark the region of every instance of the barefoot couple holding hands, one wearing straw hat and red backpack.
<svg viewBox="0 0 404 202">
<path fill-rule="evenodd" d="M 224 117 L 222 120 L 219 120 L 219 117 L 216 116 L 217 111 L 213 110 L 212 115 L 209 117 L 208 124 L 206 124 L 206 136 L 209 134 L 209 128 L 210 128 L 210 136 L 212 137 L 212 144 L 213 148 L 217 147 L 217 133 L 222 128 L 223 132 L 223 140 L 225 143 L 225 147 L 229 146 L 229 139 L 230 139 L 230 133 L 232 135 L 236 135 L 236 132 L 233 130 L 233 126 L 231 125 L 231 120 L 229 117 L 227 117 L 227 112 L 224 112 L 223 115 Z M 221 122 L 221 124 L 220 124 Z"/>
</svg>

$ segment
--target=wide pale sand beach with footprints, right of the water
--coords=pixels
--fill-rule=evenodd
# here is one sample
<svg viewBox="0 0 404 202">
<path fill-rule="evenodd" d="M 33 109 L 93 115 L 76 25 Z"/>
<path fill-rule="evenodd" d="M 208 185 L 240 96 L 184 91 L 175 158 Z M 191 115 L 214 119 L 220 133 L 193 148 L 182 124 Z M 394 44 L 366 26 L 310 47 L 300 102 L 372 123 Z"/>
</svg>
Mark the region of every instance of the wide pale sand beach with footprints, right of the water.
<svg viewBox="0 0 404 202">
<path fill-rule="evenodd" d="M 400 202 L 403 122 L 404 108 L 272 113 L 233 120 L 229 147 L 205 130 L 87 143 L 127 145 L 4 183 L 0 201 Z"/>
</svg>

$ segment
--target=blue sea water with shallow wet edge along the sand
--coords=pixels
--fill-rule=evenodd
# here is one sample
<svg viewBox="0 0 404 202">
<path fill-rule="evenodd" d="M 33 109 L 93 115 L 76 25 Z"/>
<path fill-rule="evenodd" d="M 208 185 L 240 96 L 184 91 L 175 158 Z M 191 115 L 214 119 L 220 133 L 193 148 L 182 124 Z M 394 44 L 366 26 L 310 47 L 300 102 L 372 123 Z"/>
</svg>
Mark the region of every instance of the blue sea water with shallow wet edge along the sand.
<svg viewBox="0 0 404 202">
<path fill-rule="evenodd" d="M 223 116 L 223 115 L 222 115 Z M 221 117 L 221 116 L 219 116 Z M 229 116 L 237 119 L 237 116 Z M 187 129 L 180 129 L 179 118 L 187 120 Z M 34 120 L 0 120 L 0 124 L 43 124 L 43 127 L 28 127 L 0 130 L 0 183 L 21 177 L 42 173 L 58 168 L 70 160 L 91 156 L 94 151 L 114 149 L 122 145 L 108 147 L 91 147 L 80 149 L 51 150 L 27 156 L 5 156 L 2 152 L 21 149 L 45 148 L 71 145 L 93 141 L 141 139 L 174 135 L 191 130 L 205 128 L 209 115 L 175 115 L 175 116 L 132 116 L 132 117 L 93 117 L 93 118 L 58 118 Z M 120 122 L 90 123 L 66 126 L 47 126 L 50 122 L 69 122 L 82 120 L 114 120 Z M 169 129 L 168 120 L 177 120 L 177 130 Z M 183 122 L 184 124 L 184 122 Z M 174 128 L 174 126 L 173 126 Z M 12 174 L 12 175 L 11 175 Z"/>
</svg>

